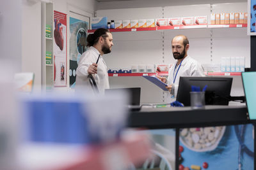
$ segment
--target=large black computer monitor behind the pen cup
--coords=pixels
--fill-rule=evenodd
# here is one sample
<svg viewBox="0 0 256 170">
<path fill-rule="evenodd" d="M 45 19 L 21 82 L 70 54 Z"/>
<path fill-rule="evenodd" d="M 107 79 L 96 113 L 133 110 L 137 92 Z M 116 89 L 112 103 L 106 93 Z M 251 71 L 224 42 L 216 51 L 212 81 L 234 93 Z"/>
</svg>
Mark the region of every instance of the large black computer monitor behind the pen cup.
<svg viewBox="0 0 256 170">
<path fill-rule="evenodd" d="M 205 90 L 206 105 L 228 105 L 233 78 L 227 77 L 180 77 L 177 101 L 190 106 L 191 86 Z"/>
</svg>

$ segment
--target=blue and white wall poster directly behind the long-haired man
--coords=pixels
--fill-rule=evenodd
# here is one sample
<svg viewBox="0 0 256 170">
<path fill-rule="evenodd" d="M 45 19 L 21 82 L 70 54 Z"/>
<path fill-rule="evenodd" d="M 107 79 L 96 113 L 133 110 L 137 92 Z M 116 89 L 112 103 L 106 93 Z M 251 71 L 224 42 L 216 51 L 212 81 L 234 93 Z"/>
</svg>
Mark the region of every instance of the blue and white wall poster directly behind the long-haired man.
<svg viewBox="0 0 256 170">
<path fill-rule="evenodd" d="M 89 28 L 89 17 L 78 15 L 76 13 L 70 13 L 69 18 L 69 85 L 74 88 L 76 85 L 76 68 L 78 66 L 79 59 L 87 50 L 86 38 Z"/>
</svg>

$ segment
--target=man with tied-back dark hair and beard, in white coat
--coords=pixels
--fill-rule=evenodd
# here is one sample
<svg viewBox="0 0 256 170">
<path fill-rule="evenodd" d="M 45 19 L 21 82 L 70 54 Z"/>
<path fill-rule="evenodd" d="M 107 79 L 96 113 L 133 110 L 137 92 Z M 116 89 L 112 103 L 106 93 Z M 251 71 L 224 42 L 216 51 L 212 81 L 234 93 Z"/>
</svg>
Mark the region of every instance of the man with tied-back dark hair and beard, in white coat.
<svg viewBox="0 0 256 170">
<path fill-rule="evenodd" d="M 81 55 L 76 69 L 76 89 L 90 87 L 88 75 L 92 74 L 100 93 L 109 89 L 108 69 L 102 55 L 111 52 L 113 37 L 108 29 L 97 29 L 87 37 L 89 50 Z M 98 60 L 99 58 L 99 60 Z M 98 60 L 98 62 L 97 62 Z"/>
</svg>

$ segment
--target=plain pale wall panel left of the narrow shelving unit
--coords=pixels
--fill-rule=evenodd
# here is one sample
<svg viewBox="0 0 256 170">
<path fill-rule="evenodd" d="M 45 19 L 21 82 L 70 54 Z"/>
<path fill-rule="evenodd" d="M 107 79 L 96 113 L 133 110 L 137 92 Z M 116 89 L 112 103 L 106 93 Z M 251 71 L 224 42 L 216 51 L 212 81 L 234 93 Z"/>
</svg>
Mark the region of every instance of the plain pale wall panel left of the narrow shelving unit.
<svg viewBox="0 0 256 170">
<path fill-rule="evenodd" d="M 22 1 L 22 72 L 35 73 L 35 86 L 41 85 L 41 3 Z"/>
</svg>

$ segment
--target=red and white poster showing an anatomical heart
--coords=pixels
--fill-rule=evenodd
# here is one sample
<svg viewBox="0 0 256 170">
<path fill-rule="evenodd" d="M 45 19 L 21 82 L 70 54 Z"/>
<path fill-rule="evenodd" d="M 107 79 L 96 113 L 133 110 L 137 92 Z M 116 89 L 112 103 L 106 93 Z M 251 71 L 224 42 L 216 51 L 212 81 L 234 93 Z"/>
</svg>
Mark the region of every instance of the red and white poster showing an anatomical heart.
<svg viewBox="0 0 256 170">
<path fill-rule="evenodd" d="M 67 86 L 67 14 L 54 11 L 54 87 Z"/>
</svg>

